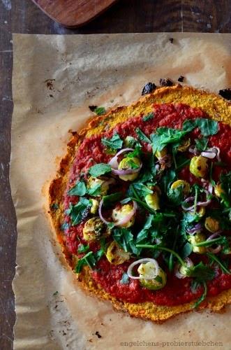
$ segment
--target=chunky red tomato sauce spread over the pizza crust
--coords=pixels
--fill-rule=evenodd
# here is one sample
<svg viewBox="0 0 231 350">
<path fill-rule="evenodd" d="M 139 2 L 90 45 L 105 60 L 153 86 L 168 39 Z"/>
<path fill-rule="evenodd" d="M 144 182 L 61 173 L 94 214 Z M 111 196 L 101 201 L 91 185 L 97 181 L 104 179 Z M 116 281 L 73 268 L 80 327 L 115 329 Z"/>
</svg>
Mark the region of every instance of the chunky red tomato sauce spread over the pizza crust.
<svg viewBox="0 0 231 350">
<path fill-rule="evenodd" d="M 77 150 L 75 161 L 70 171 L 68 188 L 72 187 L 76 180 L 80 178 L 80 173 L 87 172 L 87 169 L 96 163 L 105 163 L 112 158 L 112 155 L 105 153 L 105 147 L 101 144 L 102 137 L 110 138 L 115 133 L 119 134 L 121 138 L 125 138 L 128 135 L 137 137 L 135 132 L 137 127 L 140 127 L 140 130 L 149 136 L 157 127 L 181 128 L 184 120 L 194 118 L 207 118 L 207 115 L 200 109 L 193 109 L 185 104 L 154 105 L 154 118 L 151 120 L 145 122 L 142 120 L 142 116 L 130 118 L 126 122 L 114 127 L 114 130 L 85 139 Z M 230 170 L 231 165 L 231 128 L 229 125 L 224 125 L 223 123 L 218 123 L 218 125 L 218 133 L 209 137 L 208 146 L 217 146 L 220 148 L 221 161 L 227 163 L 228 167 L 215 167 L 213 172 L 215 181 L 218 181 L 221 172 Z M 191 140 L 198 138 L 199 135 L 199 130 L 194 130 L 190 134 Z M 148 144 L 143 144 L 143 149 L 144 151 L 151 151 Z M 179 178 L 186 179 L 191 184 L 200 182 L 200 179 L 198 180 L 189 172 L 188 166 L 179 172 Z M 69 207 L 70 202 L 74 203 L 74 198 L 77 197 L 70 197 L 67 194 L 64 196 L 66 209 Z M 75 201 L 77 202 L 77 199 Z M 69 220 L 68 216 L 66 216 L 66 221 Z M 66 246 L 72 254 L 77 254 L 77 247 L 81 243 L 89 244 L 91 251 L 97 251 L 100 248 L 98 243 L 84 241 L 82 238 L 83 227 L 84 222 L 66 229 Z M 79 256 L 81 257 L 82 255 Z M 140 286 L 138 280 L 130 280 L 127 284 L 121 283 L 122 276 L 130 264 L 131 261 L 124 262 L 121 265 L 112 265 L 106 258 L 102 258 L 91 274 L 94 281 L 99 283 L 107 293 L 126 302 L 137 303 L 150 301 L 159 305 L 171 306 L 191 302 L 202 294 L 202 287 L 193 293 L 190 278 L 177 279 L 177 277 L 170 273 L 167 273 L 167 284 L 161 290 L 154 291 L 143 288 Z M 209 281 L 207 286 L 208 295 L 217 295 L 221 293 L 221 290 L 231 288 L 231 275 L 223 274 L 221 269 L 217 269 L 216 277 L 213 281 Z"/>
</svg>

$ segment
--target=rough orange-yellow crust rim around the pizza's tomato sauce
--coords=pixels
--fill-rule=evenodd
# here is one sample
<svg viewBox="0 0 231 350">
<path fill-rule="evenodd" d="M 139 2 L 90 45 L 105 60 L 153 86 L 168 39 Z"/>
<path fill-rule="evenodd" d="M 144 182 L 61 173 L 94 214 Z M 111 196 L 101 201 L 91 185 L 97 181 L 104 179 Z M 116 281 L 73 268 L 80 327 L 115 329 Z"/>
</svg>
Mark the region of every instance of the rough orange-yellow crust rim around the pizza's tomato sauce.
<svg viewBox="0 0 231 350">
<path fill-rule="evenodd" d="M 66 237 L 64 235 L 64 231 L 61 230 L 61 225 L 64 225 L 65 216 L 63 203 L 64 194 L 66 193 L 66 188 L 68 188 L 68 176 L 70 174 L 70 169 L 73 165 L 73 160 L 75 159 L 75 153 L 77 149 L 80 147 L 84 139 L 91 137 L 92 135 L 102 134 L 103 132 L 108 130 L 113 130 L 113 128 L 116 127 L 116 125 L 118 125 L 119 123 L 124 123 L 129 118 L 135 116 L 149 116 L 149 118 L 151 118 L 150 113 L 153 113 L 154 104 L 170 103 L 183 103 L 193 108 L 200 108 L 202 111 L 207 113 L 207 116 L 212 120 L 221 121 L 231 126 L 231 104 L 226 102 L 225 99 L 218 97 L 216 94 L 211 94 L 202 90 L 197 90 L 193 87 L 181 87 L 181 85 L 174 85 L 172 87 L 158 88 L 155 90 L 155 92 L 148 94 L 145 97 L 142 97 L 140 100 L 138 100 L 131 106 L 112 109 L 105 115 L 98 116 L 91 120 L 88 123 L 88 125 L 80 132 L 73 133 L 73 137 L 68 143 L 68 151 L 66 153 L 66 156 L 61 160 L 59 171 L 57 172 L 57 177 L 50 184 L 49 190 L 49 212 L 52 219 L 52 225 L 56 232 L 57 240 L 62 246 L 66 262 L 68 263 L 71 269 L 75 270 L 77 259 L 76 256 L 71 254 L 70 251 L 68 251 L 68 248 L 66 247 Z M 190 125 L 186 125 L 186 127 L 190 127 Z M 198 127 L 200 126 L 198 125 Z M 115 137 L 114 140 L 115 144 L 118 144 L 119 148 L 119 146 L 121 146 L 119 144 L 119 139 Z M 107 140 L 105 142 L 107 142 Z M 200 151 L 204 151 L 204 149 L 206 148 L 206 140 L 200 142 L 198 148 L 200 148 Z M 117 149 L 117 151 L 119 150 Z M 133 164 L 132 167 L 135 169 L 137 168 L 137 165 Z M 98 172 L 99 169 L 94 169 L 94 171 Z M 106 169 L 105 167 L 104 171 L 107 172 L 108 169 Z M 181 190 L 182 187 L 179 187 L 179 189 Z M 82 193 L 84 193 L 84 190 L 84 187 L 80 185 L 77 188 L 77 191 L 79 191 L 77 193 L 81 193 L 81 191 Z M 173 194 L 172 201 L 174 202 L 174 200 L 179 200 L 179 196 L 180 194 L 178 193 L 177 199 L 177 196 Z M 198 200 L 198 196 L 200 197 L 200 193 L 197 193 L 197 189 L 195 186 L 195 192 L 193 196 L 194 202 L 192 203 L 192 205 L 194 204 L 196 206 L 196 200 Z M 184 199 L 184 197 L 182 198 Z M 227 200 L 227 198 L 223 199 L 224 202 L 225 200 Z M 179 205 L 179 203 L 177 203 L 177 205 Z M 54 208 L 55 210 L 52 210 Z M 196 207 L 194 209 L 196 209 Z M 211 237 L 211 239 L 212 238 L 213 237 Z M 202 241 L 204 240 L 202 239 Z M 220 241 L 217 242 L 218 244 L 220 243 Z M 221 244 L 223 244 L 223 241 Z M 200 247 L 200 244 L 198 247 Z M 82 246 L 82 253 L 84 254 L 84 246 Z M 143 257 L 145 258 L 145 256 Z M 211 260 L 213 260 L 212 257 L 214 257 L 214 255 L 211 253 Z M 175 262 L 177 262 L 177 259 Z M 114 308 L 118 311 L 126 311 L 131 316 L 147 318 L 151 321 L 163 322 L 166 321 L 168 318 L 176 316 L 177 314 L 180 314 L 182 312 L 191 311 L 196 301 L 193 300 L 192 302 L 186 302 L 184 304 L 178 304 L 174 306 L 160 306 L 154 304 L 154 302 L 124 302 L 117 300 L 117 298 L 113 297 L 109 293 L 106 293 L 105 290 L 103 290 L 103 288 L 101 288 L 98 285 L 98 283 L 94 281 L 94 279 L 91 276 L 91 270 L 89 266 L 83 265 L 80 269 L 80 273 L 76 274 L 76 276 L 77 279 L 81 282 L 81 285 L 86 290 L 102 299 L 111 300 Z M 223 309 L 225 304 L 229 304 L 230 302 L 231 290 L 223 290 L 215 297 L 205 297 L 202 303 L 198 303 L 198 309 L 208 307 L 212 311 L 220 311 L 221 309 Z"/>
</svg>

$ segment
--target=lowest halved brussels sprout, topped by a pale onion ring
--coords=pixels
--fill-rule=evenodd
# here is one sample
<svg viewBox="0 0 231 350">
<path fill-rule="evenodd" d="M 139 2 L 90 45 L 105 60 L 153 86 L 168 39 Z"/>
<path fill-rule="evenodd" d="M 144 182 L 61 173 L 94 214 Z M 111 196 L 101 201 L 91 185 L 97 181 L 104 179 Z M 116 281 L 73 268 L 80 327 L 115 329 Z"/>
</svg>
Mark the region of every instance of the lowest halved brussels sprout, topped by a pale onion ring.
<svg viewBox="0 0 231 350">
<path fill-rule="evenodd" d="M 158 290 L 165 286 L 167 282 L 167 275 L 159 267 L 158 275 L 156 276 L 156 267 L 154 265 L 154 262 L 146 262 L 144 264 L 140 264 L 140 266 L 137 269 L 137 272 L 140 274 L 140 284 L 142 287 L 151 289 L 151 290 Z M 150 279 L 152 276 L 155 276 L 154 279 Z M 148 279 L 145 279 L 148 278 Z"/>
</svg>

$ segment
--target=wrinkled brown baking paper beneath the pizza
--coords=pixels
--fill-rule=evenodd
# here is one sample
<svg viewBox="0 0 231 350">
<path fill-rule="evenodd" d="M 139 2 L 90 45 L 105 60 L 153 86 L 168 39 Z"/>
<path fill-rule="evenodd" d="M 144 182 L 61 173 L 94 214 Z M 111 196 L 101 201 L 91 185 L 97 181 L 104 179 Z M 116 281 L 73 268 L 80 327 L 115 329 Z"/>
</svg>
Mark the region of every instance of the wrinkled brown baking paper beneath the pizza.
<svg viewBox="0 0 231 350">
<path fill-rule="evenodd" d="M 158 84 L 163 77 L 182 75 L 184 83 L 214 92 L 230 87 L 230 38 L 187 33 L 13 36 L 15 349 L 175 349 L 177 344 L 181 349 L 230 349 L 230 307 L 225 314 L 193 311 L 157 325 L 117 313 L 110 302 L 83 293 L 61 261 L 43 209 L 47 181 L 66 153 L 68 130 L 82 127 L 92 114 L 89 105 L 130 104 L 145 83 Z"/>
</svg>

